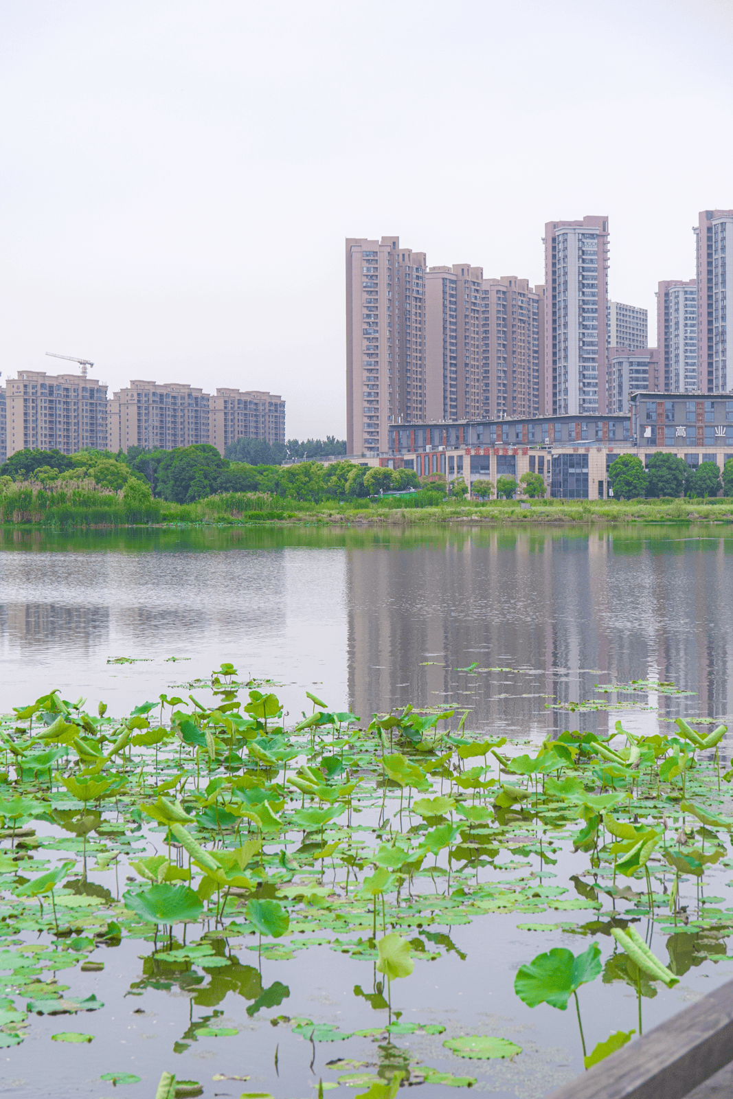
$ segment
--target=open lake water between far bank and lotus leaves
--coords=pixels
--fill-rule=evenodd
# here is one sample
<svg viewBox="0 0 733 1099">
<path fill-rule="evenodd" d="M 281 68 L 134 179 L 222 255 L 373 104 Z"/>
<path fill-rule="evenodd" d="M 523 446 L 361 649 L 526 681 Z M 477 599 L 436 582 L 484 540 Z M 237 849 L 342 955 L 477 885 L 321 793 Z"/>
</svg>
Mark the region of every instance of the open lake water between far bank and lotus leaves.
<svg viewBox="0 0 733 1099">
<path fill-rule="evenodd" d="M 291 715 L 316 688 L 360 717 L 445 704 L 544 736 L 567 724 L 548 701 L 659 678 L 721 717 L 731 607 L 728 526 L 3 531 L 0 712 L 45 685 L 121 714 L 225 659 L 281 684 Z"/>
</svg>

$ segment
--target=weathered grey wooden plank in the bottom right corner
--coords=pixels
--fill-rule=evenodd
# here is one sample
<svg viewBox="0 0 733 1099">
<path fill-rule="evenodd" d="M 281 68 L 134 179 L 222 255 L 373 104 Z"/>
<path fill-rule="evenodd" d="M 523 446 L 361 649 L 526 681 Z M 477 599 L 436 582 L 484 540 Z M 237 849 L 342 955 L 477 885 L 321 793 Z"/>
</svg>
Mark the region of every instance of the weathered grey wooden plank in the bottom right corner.
<svg viewBox="0 0 733 1099">
<path fill-rule="evenodd" d="M 728 981 L 548 1099 L 684 1099 L 732 1061 L 733 981 Z M 701 1089 L 701 1099 L 706 1095 Z M 714 1095 L 722 1092 L 711 1090 L 711 1099 Z"/>
</svg>

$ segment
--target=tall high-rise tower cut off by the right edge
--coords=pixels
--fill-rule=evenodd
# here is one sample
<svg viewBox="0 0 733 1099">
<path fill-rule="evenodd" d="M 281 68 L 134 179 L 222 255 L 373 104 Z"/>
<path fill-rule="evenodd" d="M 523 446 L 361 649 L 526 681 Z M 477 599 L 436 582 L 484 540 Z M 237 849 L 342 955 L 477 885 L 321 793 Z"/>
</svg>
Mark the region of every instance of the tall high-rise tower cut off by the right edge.
<svg viewBox="0 0 733 1099">
<path fill-rule="evenodd" d="M 725 393 L 733 391 L 733 346 L 729 348 L 726 340 L 728 307 L 733 307 L 733 210 L 701 210 L 692 232 L 697 236 L 700 389 Z"/>
</svg>

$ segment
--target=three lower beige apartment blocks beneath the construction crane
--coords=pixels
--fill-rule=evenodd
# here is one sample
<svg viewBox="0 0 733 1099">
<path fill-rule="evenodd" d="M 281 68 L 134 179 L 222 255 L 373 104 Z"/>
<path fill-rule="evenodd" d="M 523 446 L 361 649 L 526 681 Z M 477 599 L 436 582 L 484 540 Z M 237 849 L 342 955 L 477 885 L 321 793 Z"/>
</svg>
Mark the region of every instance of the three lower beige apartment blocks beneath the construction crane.
<svg viewBox="0 0 733 1099">
<path fill-rule="evenodd" d="M 25 447 L 126 454 L 131 446 L 170 451 L 209 443 L 223 455 L 237 439 L 285 443 L 282 398 L 138 379 L 110 396 L 103 381 L 44 370 L 19 370 L 0 386 L 0 464 Z"/>
</svg>

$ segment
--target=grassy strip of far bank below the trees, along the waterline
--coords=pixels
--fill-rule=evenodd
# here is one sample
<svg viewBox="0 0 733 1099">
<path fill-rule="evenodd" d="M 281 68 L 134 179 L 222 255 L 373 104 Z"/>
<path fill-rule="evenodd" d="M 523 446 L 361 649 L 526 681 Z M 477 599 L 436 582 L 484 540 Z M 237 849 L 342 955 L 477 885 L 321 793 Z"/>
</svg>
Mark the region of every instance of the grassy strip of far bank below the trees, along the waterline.
<svg viewBox="0 0 733 1099">
<path fill-rule="evenodd" d="M 526 507 L 526 503 L 530 507 Z M 149 499 L 141 503 L 90 485 L 64 489 L 15 484 L 0 496 L 0 520 L 9 526 L 52 530 L 166 524 L 316 523 L 324 525 L 424 525 L 435 523 L 668 523 L 733 522 L 733 499 L 712 500 L 458 500 L 422 491 L 377 500 L 311 501 L 269 493 L 219 493 L 193 503 Z"/>
</svg>

